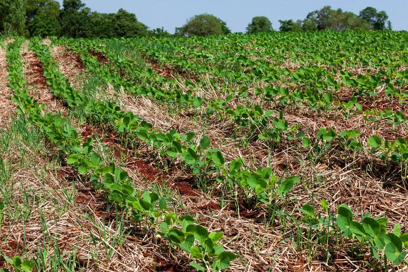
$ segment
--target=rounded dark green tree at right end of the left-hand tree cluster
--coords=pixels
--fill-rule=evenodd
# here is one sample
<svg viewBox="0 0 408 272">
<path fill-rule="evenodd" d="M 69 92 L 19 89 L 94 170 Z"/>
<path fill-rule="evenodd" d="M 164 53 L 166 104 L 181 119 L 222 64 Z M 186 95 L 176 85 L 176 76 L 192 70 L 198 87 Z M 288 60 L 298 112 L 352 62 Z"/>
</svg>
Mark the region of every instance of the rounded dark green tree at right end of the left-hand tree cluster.
<svg viewBox="0 0 408 272">
<path fill-rule="evenodd" d="M 133 38 L 147 35 L 148 27 L 137 21 L 136 15 L 122 8 L 113 16 L 113 24 L 116 37 Z"/>
</svg>

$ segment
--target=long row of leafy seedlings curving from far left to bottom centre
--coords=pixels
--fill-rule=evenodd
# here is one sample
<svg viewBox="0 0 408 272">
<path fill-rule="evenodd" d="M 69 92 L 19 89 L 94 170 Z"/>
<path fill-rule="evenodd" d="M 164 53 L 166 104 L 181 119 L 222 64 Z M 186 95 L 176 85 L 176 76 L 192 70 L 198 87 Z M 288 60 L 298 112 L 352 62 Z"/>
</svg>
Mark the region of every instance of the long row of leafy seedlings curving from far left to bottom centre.
<svg viewBox="0 0 408 272">
<path fill-rule="evenodd" d="M 34 42 L 33 49 L 37 49 L 39 56 L 46 56 L 42 46 Z M 49 52 L 48 52 L 49 54 Z M 97 188 L 107 192 L 108 199 L 126 208 L 131 216 L 138 221 L 145 221 L 150 228 L 158 231 L 163 238 L 167 239 L 170 246 L 180 247 L 189 253 L 194 260 L 191 265 L 200 270 L 219 271 L 227 268 L 230 261 L 236 258 L 235 254 L 226 252 L 223 246 L 217 242 L 222 238 L 222 232 L 209 233 L 202 226 L 195 224 L 191 216 L 179 217 L 174 212 L 169 212 L 166 198 L 160 198 L 158 194 L 146 191 L 136 191 L 130 184 L 128 173 L 115 167 L 113 163 L 108 166 L 102 157 L 94 150 L 93 139 L 87 138 L 81 142 L 75 128 L 69 124 L 69 120 L 53 114 L 41 114 L 41 106 L 28 96 L 26 82 L 22 77 L 22 63 L 20 57 L 20 44 L 18 42 L 7 46 L 7 61 L 10 88 L 15 90 L 13 101 L 16 101 L 19 112 L 36 124 L 44 135 L 67 156 L 67 163 L 77 168 L 79 173 L 88 177 Z M 50 65 L 55 63 L 50 63 Z M 59 72 L 48 70 L 44 67 L 44 75 L 47 83 L 54 92 L 66 85 L 67 82 L 59 76 Z M 67 98 L 73 98 L 67 94 Z M 73 101 L 83 103 L 84 100 Z M 71 101 L 71 103 L 73 103 Z"/>
</svg>

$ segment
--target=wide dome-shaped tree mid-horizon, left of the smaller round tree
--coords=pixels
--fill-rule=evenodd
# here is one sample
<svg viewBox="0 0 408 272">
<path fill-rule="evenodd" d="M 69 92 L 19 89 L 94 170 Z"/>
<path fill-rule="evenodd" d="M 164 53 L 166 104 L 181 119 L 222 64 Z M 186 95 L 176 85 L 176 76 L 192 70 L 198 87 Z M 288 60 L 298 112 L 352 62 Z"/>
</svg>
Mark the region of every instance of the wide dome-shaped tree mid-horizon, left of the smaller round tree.
<svg viewBox="0 0 408 272">
<path fill-rule="evenodd" d="M 210 36 L 225 35 L 231 33 L 226 22 L 221 21 L 211 14 L 200 14 L 193 16 L 182 27 L 176 28 L 176 35 L 179 36 Z"/>
</svg>

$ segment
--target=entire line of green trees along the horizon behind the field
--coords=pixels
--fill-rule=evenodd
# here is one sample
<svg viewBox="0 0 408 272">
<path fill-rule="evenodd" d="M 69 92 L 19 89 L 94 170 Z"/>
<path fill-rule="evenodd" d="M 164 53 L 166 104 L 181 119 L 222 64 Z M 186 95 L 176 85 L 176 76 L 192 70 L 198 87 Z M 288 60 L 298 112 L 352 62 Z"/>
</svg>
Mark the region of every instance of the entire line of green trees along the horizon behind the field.
<svg viewBox="0 0 408 272">
<path fill-rule="evenodd" d="M 359 15 L 324 6 L 304 20 L 279 20 L 280 31 L 391 30 L 385 11 L 366 7 Z M 247 33 L 274 31 L 267 17 L 254 17 Z M 70 38 L 114 38 L 172 36 L 163 28 L 149 29 L 136 15 L 120 9 L 117 13 L 91 11 L 81 0 L 0 0 L 0 33 L 25 37 L 64 36 Z M 227 23 L 211 14 L 195 15 L 175 29 L 174 36 L 226 35 Z"/>
</svg>

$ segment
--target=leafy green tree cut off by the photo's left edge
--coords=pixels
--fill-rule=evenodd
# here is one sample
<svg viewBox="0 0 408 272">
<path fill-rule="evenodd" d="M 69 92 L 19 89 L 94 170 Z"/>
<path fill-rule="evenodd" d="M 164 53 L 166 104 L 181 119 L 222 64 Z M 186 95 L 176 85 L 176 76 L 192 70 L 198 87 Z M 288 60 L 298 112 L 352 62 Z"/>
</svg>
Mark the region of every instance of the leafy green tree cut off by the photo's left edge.
<svg viewBox="0 0 408 272">
<path fill-rule="evenodd" d="M 26 35 L 23 0 L 0 0 L 0 32 Z"/>
</svg>

